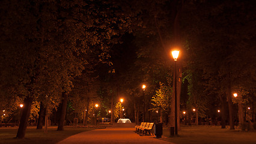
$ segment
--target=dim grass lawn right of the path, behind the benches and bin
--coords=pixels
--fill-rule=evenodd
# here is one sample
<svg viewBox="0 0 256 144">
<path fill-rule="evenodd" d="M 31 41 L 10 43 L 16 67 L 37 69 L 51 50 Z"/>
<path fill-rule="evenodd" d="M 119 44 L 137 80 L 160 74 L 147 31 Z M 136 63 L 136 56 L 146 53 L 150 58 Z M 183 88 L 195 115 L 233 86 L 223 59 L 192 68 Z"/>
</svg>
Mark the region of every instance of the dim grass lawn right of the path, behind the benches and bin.
<svg viewBox="0 0 256 144">
<path fill-rule="evenodd" d="M 177 144 L 233 144 L 233 143 L 256 143 L 256 131 L 241 131 L 239 128 L 230 130 L 229 128 L 222 129 L 221 126 L 210 125 L 183 125 L 178 131 L 178 136 L 169 137 L 169 130 L 163 129 L 162 140 Z"/>
</svg>

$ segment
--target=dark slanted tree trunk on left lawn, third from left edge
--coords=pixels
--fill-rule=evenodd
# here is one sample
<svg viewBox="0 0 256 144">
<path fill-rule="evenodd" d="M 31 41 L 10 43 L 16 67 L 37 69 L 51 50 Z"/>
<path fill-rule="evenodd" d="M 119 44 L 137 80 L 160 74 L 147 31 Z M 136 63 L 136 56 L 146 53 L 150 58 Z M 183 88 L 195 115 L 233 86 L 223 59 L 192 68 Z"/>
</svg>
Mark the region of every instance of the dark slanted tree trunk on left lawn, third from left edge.
<svg viewBox="0 0 256 144">
<path fill-rule="evenodd" d="M 59 122 L 58 122 L 58 131 L 64 130 L 64 121 L 65 121 L 65 116 L 67 112 L 67 93 L 62 92 L 62 104 L 61 104 L 61 113 L 59 116 Z"/>
</svg>

